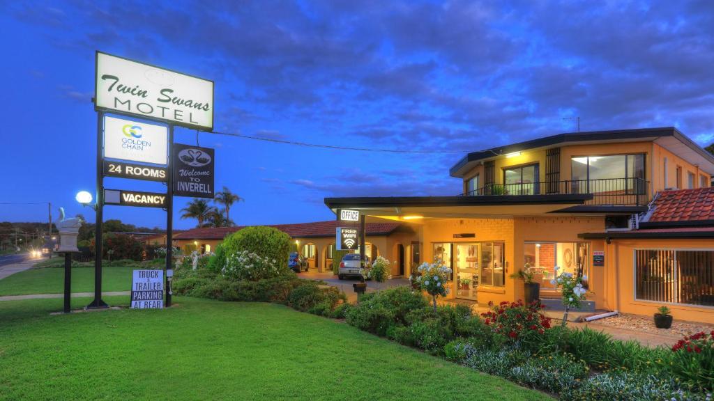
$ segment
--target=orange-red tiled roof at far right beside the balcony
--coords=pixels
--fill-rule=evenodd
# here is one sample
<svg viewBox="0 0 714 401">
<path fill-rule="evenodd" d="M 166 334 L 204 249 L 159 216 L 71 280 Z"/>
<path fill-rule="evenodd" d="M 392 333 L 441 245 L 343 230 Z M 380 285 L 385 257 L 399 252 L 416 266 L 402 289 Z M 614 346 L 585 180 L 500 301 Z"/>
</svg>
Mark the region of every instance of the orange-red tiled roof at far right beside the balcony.
<svg viewBox="0 0 714 401">
<path fill-rule="evenodd" d="M 663 191 L 648 223 L 714 220 L 714 187 Z"/>
</svg>

